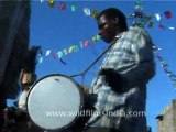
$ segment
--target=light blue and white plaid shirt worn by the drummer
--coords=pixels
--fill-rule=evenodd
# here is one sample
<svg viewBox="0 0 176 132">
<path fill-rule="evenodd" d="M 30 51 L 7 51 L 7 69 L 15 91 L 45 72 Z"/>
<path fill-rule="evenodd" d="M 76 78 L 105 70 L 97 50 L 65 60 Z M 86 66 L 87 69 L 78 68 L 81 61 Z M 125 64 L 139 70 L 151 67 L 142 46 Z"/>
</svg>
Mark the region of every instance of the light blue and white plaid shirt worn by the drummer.
<svg viewBox="0 0 176 132">
<path fill-rule="evenodd" d="M 117 36 L 119 37 L 119 36 Z M 145 111 L 146 84 L 155 74 L 155 63 L 152 50 L 153 43 L 144 29 L 130 28 L 120 34 L 117 42 L 107 53 L 101 68 L 113 68 L 123 77 L 124 94 L 114 92 L 105 81 L 103 76 L 97 76 L 90 92 L 98 94 L 95 114 L 89 122 L 94 127 L 119 128 L 121 119 L 129 120 L 129 116 L 101 116 L 102 111 L 110 111 L 119 107 L 117 112 Z"/>
</svg>

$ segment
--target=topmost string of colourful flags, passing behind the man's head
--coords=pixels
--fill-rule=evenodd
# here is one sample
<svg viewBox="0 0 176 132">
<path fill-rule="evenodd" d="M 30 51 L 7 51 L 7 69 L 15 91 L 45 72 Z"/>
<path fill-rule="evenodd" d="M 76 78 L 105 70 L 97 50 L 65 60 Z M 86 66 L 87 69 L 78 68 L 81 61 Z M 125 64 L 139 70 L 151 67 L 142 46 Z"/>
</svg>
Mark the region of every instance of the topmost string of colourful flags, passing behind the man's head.
<svg viewBox="0 0 176 132">
<path fill-rule="evenodd" d="M 43 2 L 43 0 L 41 0 L 41 2 Z M 48 0 L 48 7 L 50 8 L 55 8 L 56 7 L 56 0 Z M 74 3 L 72 6 L 67 6 L 66 2 L 64 1 L 59 1 L 58 2 L 58 9 L 59 10 L 66 10 L 66 9 L 70 9 L 73 12 L 78 11 L 79 7 Z M 153 21 L 153 18 L 156 19 L 157 21 L 157 26 L 160 29 L 169 29 L 169 30 L 175 30 L 176 28 L 174 26 L 166 26 L 162 23 L 162 14 L 165 15 L 166 19 L 172 19 L 173 18 L 173 13 L 170 11 L 164 11 L 163 13 L 152 13 L 152 14 L 144 14 L 143 13 L 143 9 L 144 9 L 144 4 L 142 1 L 136 1 L 134 2 L 134 13 L 127 15 L 128 19 L 134 19 L 133 25 L 138 25 L 138 26 L 145 26 L 147 25 L 147 28 L 153 28 L 155 26 L 155 23 Z M 84 13 L 85 15 L 91 15 L 92 18 L 96 18 L 99 13 L 98 10 L 90 10 L 90 8 L 84 8 Z"/>
</svg>

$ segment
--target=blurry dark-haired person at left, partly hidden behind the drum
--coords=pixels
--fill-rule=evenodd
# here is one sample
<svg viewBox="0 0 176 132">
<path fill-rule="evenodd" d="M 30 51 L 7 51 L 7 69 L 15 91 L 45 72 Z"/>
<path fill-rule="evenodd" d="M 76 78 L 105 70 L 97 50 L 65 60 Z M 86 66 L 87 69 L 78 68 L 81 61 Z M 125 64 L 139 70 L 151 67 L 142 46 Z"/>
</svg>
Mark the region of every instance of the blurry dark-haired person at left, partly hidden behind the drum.
<svg viewBox="0 0 176 132">
<path fill-rule="evenodd" d="M 36 81 L 36 55 L 38 53 L 40 46 L 32 46 L 28 51 L 28 56 L 25 58 L 23 70 L 21 74 L 21 87 L 22 92 L 20 94 L 18 100 L 18 109 L 15 110 L 15 124 L 14 132 L 40 132 L 41 130 L 36 128 L 28 117 L 26 111 L 26 97 L 31 86 Z"/>
</svg>

